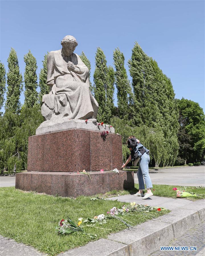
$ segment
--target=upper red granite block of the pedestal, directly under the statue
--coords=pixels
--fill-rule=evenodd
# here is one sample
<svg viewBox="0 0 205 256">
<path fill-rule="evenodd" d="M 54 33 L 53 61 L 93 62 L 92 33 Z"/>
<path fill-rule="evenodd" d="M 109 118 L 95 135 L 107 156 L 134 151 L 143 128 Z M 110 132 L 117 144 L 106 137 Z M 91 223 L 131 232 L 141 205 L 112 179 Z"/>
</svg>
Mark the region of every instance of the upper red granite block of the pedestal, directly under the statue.
<svg viewBox="0 0 205 256">
<path fill-rule="evenodd" d="M 28 171 L 77 172 L 122 169 L 122 138 L 71 129 L 28 138 Z"/>
</svg>

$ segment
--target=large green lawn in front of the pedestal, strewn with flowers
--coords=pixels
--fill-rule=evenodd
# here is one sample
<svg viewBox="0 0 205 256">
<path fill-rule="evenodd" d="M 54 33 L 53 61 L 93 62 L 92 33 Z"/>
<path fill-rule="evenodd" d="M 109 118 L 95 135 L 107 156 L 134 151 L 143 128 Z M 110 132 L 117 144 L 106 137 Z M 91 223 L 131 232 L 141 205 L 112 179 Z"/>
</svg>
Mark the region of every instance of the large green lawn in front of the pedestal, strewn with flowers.
<svg viewBox="0 0 205 256">
<path fill-rule="evenodd" d="M 108 193 L 114 194 L 116 193 Z M 125 193 L 125 192 L 124 192 Z M 128 192 L 127 192 L 128 193 Z M 108 196 L 108 195 L 107 195 Z M 91 196 L 93 197 L 93 196 Z M 69 216 L 77 222 L 78 218 L 93 218 L 99 214 L 106 214 L 116 206 L 121 208 L 123 202 L 110 200 L 90 200 L 91 197 L 79 196 L 76 199 L 60 196 L 48 196 L 34 192 L 22 192 L 14 187 L 0 188 L 0 234 L 15 239 L 26 245 L 56 255 L 68 249 L 85 245 L 92 239 L 83 234 L 58 235 L 55 227 L 59 220 Z M 157 218 L 165 212 L 145 212 L 123 216 L 132 223 L 140 224 L 146 220 Z M 86 227 L 86 233 L 96 234 L 97 239 L 107 237 L 109 233 L 125 229 L 122 222 L 111 219 L 106 224 L 99 225 L 102 230 Z"/>
</svg>

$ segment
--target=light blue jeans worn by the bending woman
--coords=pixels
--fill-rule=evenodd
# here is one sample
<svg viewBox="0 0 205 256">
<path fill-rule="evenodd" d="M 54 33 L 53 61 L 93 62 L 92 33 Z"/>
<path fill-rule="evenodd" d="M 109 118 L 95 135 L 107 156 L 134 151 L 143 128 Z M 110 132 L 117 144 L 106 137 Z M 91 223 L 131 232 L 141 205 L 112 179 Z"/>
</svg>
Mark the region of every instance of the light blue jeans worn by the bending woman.
<svg viewBox="0 0 205 256">
<path fill-rule="evenodd" d="M 147 155 L 147 153 L 144 153 L 139 161 L 139 167 L 137 171 L 139 189 L 145 189 L 144 180 L 145 180 L 147 189 L 153 187 L 151 183 L 151 179 L 149 177 L 149 161 L 150 161 L 149 155 Z"/>
</svg>

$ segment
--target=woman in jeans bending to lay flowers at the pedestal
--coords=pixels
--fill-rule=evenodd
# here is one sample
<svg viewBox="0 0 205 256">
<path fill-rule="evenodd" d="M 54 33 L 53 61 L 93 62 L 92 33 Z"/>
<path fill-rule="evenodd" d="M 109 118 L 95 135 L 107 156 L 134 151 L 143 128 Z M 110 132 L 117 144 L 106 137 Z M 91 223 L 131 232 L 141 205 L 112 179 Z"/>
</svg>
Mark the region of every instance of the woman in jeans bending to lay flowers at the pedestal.
<svg viewBox="0 0 205 256">
<path fill-rule="evenodd" d="M 146 199 L 150 196 L 153 196 L 151 192 L 152 183 L 149 177 L 149 149 L 146 149 L 140 141 L 135 138 L 135 136 L 130 136 L 127 140 L 128 148 L 131 151 L 131 155 L 129 155 L 125 164 L 122 167 L 125 167 L 130 161 L 134 161 L 134 166 L 139 162 L 139 167 L 137 171 L 138 182 L 139 182 L 139 191 L 134 194 L 134 196 L 142 196 L 142 199 Z M 143 179 L 144 177 L 144 179 Z M 143 194 L 143 189 L 145 189 L 145 185 L 147 189 L 147 193 Z"/>
</svg>

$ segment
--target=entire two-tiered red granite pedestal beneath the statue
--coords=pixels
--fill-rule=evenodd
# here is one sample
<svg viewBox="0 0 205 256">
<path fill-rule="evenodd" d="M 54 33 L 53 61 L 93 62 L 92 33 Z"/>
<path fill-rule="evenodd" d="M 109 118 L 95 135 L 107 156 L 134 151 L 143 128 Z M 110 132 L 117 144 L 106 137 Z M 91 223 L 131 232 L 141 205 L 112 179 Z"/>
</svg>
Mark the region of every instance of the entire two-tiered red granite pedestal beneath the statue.
<svg viewBox="0 0 205 256">
<path fill-rule="evenodd" d="M 100 132 L 82 129 L 40 134 L 28 138 L 28 172 L 17 173 L 16 188 L 71 197 L 134 188 L 133 172 L 109 171 L 121 166 L 122 139 L 117 134 L 105 140 Z M 77 174 L 83 169 L 91 179 Z"/>
</svg>

